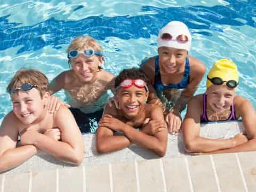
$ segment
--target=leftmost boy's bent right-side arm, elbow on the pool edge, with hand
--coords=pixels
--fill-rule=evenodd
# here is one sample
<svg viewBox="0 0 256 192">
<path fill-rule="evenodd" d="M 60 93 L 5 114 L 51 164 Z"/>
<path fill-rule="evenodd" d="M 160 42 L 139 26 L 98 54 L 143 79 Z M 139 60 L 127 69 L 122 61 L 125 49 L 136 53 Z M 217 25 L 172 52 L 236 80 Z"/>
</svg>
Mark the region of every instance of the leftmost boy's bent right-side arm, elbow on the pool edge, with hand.
<svg viewBox="0 0 256 192">
<path fill-rule="evenodd" d="M 66 107 L 62 106 L 57 111 L 54 122 L 61 131 L 61 141 L 33 132 L 34 140 L 31 142 L 60 161 L 80 165 L 83 161 L 84 141 L 73 115 Z M 24 137 L 31 138 L 31 134 L 25 134 L 22 135 L 21 142 L 23 139 L 26 140 Z"/>
</svg>

